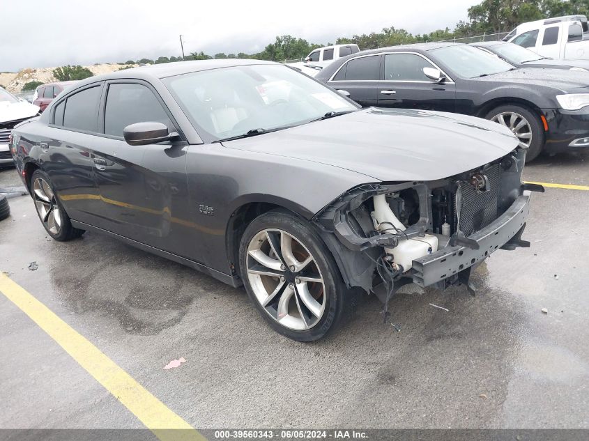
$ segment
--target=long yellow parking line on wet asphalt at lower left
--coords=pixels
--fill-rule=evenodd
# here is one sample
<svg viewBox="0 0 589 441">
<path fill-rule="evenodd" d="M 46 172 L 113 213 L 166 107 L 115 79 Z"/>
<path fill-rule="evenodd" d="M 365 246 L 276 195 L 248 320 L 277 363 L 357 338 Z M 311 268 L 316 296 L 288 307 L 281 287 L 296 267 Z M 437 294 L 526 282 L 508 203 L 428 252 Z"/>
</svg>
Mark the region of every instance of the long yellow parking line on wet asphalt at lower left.
<svg viewBox="0 0 589 441">
<path fill-rule="evenodd" d="M 49 334 L 160 440 L 206 440 L 45 304 L 1 273 L 0 292 Z"/>
</svg>

